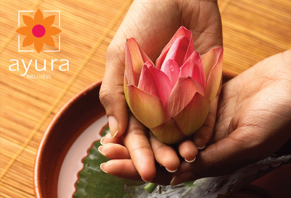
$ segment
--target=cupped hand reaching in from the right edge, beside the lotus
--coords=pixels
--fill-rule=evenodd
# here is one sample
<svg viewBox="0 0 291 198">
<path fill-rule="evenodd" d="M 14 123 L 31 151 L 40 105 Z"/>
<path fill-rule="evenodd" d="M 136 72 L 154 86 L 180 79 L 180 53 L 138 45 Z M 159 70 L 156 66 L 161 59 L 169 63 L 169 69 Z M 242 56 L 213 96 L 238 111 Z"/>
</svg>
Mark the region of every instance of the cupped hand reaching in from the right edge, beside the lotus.
<svg viewBox="0 0 291 198">
<path fill-rule="evenodd" d="M 183 162 L 171 185 L 221 176 L 260 161 L 291 137 L 291 50 L 257 63 L 222 86 L 211 145 Z"/>
</svg>

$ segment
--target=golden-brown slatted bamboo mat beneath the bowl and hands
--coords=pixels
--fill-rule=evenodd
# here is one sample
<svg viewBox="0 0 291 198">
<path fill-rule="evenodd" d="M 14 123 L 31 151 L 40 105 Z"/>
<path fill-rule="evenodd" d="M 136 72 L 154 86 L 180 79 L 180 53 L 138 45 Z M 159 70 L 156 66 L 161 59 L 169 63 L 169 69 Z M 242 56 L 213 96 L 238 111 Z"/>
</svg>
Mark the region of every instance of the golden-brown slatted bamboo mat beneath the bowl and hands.
<svg viewBox="0 0 291 198">
<path fill-rule="evenodd" d="M 102 78 L 106 48 L 131 3 L 131 0 L 0 1 L 1 198 L 34 197 L 34 159 L 44 131 L 72 96 Z M 224 36 L 224 71 L 241 73 L 258 61 L 291 48 L 290 0 L 218 3 Z M 61 10 L 59 53 L 27 55 L 17 51 L 18 10 L 38 8 Z M 21 21 L 20 26 L 23 25 Z M 59 71 L 58 67 L 45 73 L 31 69 L 29 74 L 50 74 L 51 79 L 27 79 L 20 76 L 23 66 L 20 71 L 8 69 L 11 59 L 24 59 L 27 63 L 31 58 L 47 59 L 48 65 L 52 57 L 58 61 L 68 59 L 69 71 Z M 42 62 L 38 64 L 43 66 Z M 60 64 L 63 63 L 56 65 Z"/>
</svg>

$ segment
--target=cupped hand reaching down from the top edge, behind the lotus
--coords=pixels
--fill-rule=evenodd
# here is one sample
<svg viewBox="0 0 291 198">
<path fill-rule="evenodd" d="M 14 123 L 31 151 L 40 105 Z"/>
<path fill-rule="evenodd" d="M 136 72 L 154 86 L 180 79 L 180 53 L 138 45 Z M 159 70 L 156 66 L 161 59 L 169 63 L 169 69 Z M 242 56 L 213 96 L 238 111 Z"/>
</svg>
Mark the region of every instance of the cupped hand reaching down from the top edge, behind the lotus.
<svg viewBox="0 0 291 198">
<path fill-rule="evenodd" d="M 126 38 L 134 37 L 154 62 L 181 26 L 185 26 L 193 33 L 195 49 L 201 56 L 211 48 L 222 46 L 222 26 L 217 1 L 135 0 L 107 50 L 106 69 L 100 89 L 100 100 L 106 109 L 111 136 L 114 137 L 107 142 L 118 143 L 127 129 L 123 142 L 130 151 L 130 163 L 145 181 L 151 181 L 156 175 L 154 159 L 166 167 L 169 172 L 176 171 L 180 161 L 173 148 L 160 143 L 155 136 L 151 134 L 149 136 L 147 129 L 137 120 L 133 119 L 128 122 L 130 119 L 128 119 L 128 107 L 123 91 L 125 41 Z M 215 102 L 213 103 L 216 110 Z M 214 122 L 211 125 L 214 125 Z M 197 137 L 194 138 L 194 142 L 199 147 L 203 147 L 211 138 L 212 130 L 207 131 L 207 137 L 196 132 L 198 135 L 194 136 Z M 127 138 L 128 136 L 131 138 Z M 195 143 L 193 140 L 189 140 L 180 145 L 180 154 L 188 161 L 195 158 L 192 152 L 197 150 Z M 118 151 L 118 149 L 114 149 L 114 146 L 117 145 L 111 145 L 112 155 L 114 155 L 114 150 Z M 187 150 L 189 146 L 191 149 Z M 120 145 L 118 147 L 121 148 Z M 148 160 L 144 159 L 145 156 Z M 114 163 L 114 166 L 118 167 L 121 164 L 122 161 L 119 160 Z M 114 166 L 111 166 L 112 170 Z M 107 165 L 104 165 L 105 171 L 106 167 Z M 108 170 L 107 172 L 118 175 Z"/>
</svg>

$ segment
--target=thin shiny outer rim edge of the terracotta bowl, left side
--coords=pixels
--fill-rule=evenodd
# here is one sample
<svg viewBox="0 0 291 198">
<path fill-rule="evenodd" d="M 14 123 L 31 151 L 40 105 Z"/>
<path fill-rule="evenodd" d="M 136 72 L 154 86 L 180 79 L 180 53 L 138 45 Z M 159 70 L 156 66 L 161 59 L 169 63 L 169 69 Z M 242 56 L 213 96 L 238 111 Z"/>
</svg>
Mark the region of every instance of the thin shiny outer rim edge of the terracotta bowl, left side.
<svg viewBox="0 0 291 198">
<path fill-rule="evenodd" d="M 38 174 L 38 170 L 39 167 L 41 166 L 41 156 L 44 155 L 43 153 L 43 147 L 44 145 L 47 144 L 48 141 L 48 135 L 51 133 L 52 129 L 54 128 L 54 126 L 56 125 L 57 121 L 59 120 L 59 118 L 61 118 L 65 112 L 71 108 L 71 106 L 77 102 L 80 98 L 82 97 L 86 97 L 86 94 L 88 91 L 90 91 L 91 89 L 93 89 L 96 86 L 100 86 L 102 83 L 103 79 L 100 79 L 92 84 L 90 84 L 89 86 L 85 87 L 83 90 L 81 90 L 80 92 L 78 92 L 75 96 L 73 96 L 66 104 L 64 104 L 64 106 L 57 112 L 57 114 L 54 116 L 54 118 L 51 120 L 49 126 L 47 127 L 46 131 L 43 134 L 43 137 L 41 139 L 41 142 L 38 146 L 38 151 L 36 153 L 35 156 L 35 162 L 34 162 L 34 170 L 33 170 L 33 189 L 34 189 L 34 196 L 36 198 L 42 198 L 43 196 L 40 193 L 40 190 L 38 188 L 38 184 L 39 184 L 39 177 L 40 174 Z"/>
</svg>

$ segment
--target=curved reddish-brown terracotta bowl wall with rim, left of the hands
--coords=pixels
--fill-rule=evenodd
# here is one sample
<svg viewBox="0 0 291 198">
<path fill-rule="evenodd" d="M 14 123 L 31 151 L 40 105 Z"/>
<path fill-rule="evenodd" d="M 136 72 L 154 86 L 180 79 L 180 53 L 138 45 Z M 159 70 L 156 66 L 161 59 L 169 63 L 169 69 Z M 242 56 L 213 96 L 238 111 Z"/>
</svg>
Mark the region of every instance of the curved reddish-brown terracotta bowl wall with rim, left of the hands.
<svg viewBox="0 0 291 198">
<path fill-rule="evenodd" d="M 43 135 L 35 159 L 36 198 L 56 198 L 62 161 L 72 143 L 91 123 L 105 114 L 99 100 L 101 80 L 74 96 L 56 114 Z"/>
</svg>

